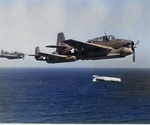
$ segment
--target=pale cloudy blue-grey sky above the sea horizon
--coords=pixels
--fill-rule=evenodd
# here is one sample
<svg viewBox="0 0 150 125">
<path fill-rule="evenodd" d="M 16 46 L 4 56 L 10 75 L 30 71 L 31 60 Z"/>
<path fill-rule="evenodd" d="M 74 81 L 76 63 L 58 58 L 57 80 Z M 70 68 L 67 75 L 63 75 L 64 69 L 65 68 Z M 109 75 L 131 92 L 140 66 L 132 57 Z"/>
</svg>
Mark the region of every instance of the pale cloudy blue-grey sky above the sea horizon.
<svg viewBox="0 0 150 125">
<path fill-rule="evenodd" d="M 86 42 L 107 35 L 140 43 L 133 55 L 121 59 L 48 64 L 26 56 L 0 58 L 0 67 L 150 68 L 150 0 L 0 0 L 0 50 L 52 53 L 57 33 Z"/>
</svg>

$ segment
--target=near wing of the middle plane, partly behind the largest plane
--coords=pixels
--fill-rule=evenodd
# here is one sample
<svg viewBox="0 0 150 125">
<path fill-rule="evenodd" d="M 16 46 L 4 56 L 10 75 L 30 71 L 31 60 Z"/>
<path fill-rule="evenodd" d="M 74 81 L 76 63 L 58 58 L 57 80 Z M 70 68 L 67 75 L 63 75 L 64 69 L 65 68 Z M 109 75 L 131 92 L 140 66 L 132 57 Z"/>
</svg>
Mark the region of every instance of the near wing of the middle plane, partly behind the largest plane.
<svg viewBox="0 0 150 125">
<path fill-rule="evenodd" d="M 48 53 L 37 53 L 38 55 L 41 55 L 41 56 L 46 56 L 46 57 L 50 57 L 50 58 L 60 58 L 60 59 L 66 59 L 67 56 L 65 55 L 58 55 L 58 54 L 48 54 Z"/>
</svg>

